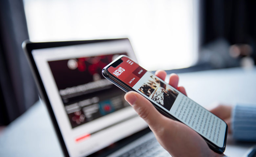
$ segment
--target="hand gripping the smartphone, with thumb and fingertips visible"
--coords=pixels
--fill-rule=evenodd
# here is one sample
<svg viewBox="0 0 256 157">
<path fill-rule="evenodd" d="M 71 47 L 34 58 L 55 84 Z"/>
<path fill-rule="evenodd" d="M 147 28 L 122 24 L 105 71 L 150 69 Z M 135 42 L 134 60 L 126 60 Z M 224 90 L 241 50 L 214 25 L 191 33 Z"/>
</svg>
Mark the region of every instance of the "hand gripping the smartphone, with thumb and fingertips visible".
<svg viewBox="0 0 256 157">
<path fill-rule="evenodd" d="M 156 76 L 164 80 L 165 71 L 157 71 Z M 178 87 L 179 77 L 170 75 L 169 84 L 186 95 L 184 87 Z M 204 139 L 185 124 L 165 117 L 152 103 L 137 92 L 128 92 L 125 100 L 143 118 L 155 134 L 160 145 L 175 156 L 224 156 L 211 150 Z"/>
</svg>

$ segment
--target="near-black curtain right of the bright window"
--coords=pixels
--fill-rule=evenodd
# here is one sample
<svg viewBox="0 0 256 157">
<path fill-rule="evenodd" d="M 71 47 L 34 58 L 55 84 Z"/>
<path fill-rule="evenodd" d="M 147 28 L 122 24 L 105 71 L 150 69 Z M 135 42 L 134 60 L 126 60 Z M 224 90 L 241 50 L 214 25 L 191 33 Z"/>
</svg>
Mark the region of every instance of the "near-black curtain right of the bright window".
<svg viewBox="0 0 256 157">
<path fill-rule="evenodd" d="M 255 60 L 255 10 L 253 0 L 200 0 L 200 46 L 220 38 L 231 45 L 249 44 Z"/>
</svg>

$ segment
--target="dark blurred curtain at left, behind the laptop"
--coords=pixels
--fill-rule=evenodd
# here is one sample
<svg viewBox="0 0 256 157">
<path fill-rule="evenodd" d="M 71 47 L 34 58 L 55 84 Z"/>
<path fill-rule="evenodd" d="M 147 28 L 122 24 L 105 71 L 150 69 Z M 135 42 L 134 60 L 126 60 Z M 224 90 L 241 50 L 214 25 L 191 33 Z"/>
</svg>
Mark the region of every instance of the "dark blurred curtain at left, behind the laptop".
<svg viewBox="0 0 256 157">
<path fill-rule="evenodd" d="M 24 113 L 38 94 L 21 44 L 28 39 L 22 0 L 0 5 L 0 125 Z"/>
</svg>

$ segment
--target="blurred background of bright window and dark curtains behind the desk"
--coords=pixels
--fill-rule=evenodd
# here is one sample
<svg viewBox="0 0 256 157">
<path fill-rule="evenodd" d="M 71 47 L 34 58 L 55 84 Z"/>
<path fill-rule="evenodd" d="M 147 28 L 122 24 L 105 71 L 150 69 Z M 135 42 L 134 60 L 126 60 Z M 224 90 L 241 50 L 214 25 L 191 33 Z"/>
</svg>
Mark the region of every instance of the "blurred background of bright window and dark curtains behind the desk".
<svg viewBox="0 0 256 157">
<path fill-rule="evenodd" d="M 0 126 L 38 100 L 21 47 L 26 39 L 128 37 L 139 64 L 151 71 L 252 68 L 255 9 L 255 1 L 243 0 L 2 0 Z"/>
</svg>

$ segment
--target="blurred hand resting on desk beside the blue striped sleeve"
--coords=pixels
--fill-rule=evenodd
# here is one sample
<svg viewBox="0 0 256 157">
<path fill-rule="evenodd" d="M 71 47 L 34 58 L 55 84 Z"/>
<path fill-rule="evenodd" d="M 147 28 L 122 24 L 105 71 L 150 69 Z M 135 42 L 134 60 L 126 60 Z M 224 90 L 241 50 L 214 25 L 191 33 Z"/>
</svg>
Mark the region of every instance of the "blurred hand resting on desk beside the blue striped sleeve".
<svg viewBox="0 0 256 157">
<path fill-rule="evenodd" d="M 221 119 L 223 119 L 228 126 L 228 133 L 232 133 L 231 129 L 231 111 L 232 111 L 232 106 L 230 105 L 223 105 L 220 104 L 214 109 L 210 110 L 211 113 L 217 115 Z"/>
</svg>

